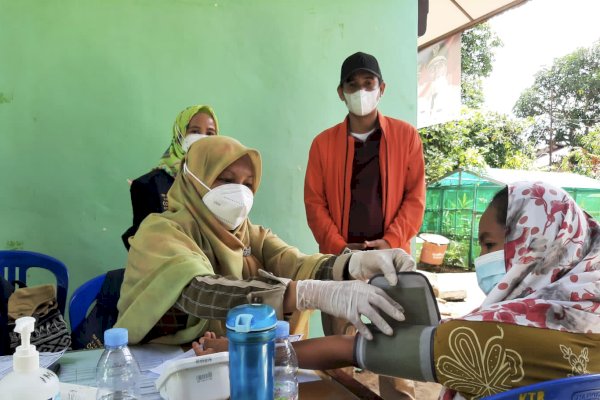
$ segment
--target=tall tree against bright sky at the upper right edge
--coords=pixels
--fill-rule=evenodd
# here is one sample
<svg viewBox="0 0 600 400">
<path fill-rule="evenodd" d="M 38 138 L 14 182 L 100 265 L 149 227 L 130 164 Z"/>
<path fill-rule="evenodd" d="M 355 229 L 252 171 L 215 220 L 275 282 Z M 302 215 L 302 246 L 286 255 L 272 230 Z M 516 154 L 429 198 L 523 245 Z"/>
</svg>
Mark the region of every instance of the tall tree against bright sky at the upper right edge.
<svg viewBox="0 0 600 400">
<path fill-rule="evenodd" d="M 600 122 L 600 42 L 558 58 L 535 76 L 517 100 L 519 117 L 531 117 L 533 143 L 579 146 Z"/>
</svg>

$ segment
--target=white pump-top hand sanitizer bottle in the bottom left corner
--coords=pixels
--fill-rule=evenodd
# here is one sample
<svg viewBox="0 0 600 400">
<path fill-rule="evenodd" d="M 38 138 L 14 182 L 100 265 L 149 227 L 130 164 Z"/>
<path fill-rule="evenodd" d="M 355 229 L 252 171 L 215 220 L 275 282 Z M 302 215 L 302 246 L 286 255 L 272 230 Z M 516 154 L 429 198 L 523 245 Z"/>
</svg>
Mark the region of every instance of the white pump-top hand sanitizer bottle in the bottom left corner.
<svg viewBox="0 0 600 400">
<path fill-rule="evenodd" d="M 13 354 L 13 371 L 0 381 L 4 400 L 60 400 L 60 384 L 56 374 L 40 368 L 40 353 L 30 343 L 35 318 L 17 319 L 15 332 L 21 345 Z"/>
</svg>

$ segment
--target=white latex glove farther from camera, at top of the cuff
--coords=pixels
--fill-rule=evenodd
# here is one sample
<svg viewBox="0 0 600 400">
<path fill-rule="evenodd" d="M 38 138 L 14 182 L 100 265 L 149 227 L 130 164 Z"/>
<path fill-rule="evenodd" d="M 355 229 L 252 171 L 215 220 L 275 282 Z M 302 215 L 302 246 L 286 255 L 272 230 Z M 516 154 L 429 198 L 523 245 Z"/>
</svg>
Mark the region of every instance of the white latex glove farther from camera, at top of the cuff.
<svg viewBox="0 0 600 400">
<path fill-rule="evenodd" d="M 415 269 L 415 260 L 402 249 L 358 251 L 348 262 L 348 272 L 354 279 L 364 281 L 383 274 L 392 286 L 398 283 L 396 272 Z"/>
</svg>

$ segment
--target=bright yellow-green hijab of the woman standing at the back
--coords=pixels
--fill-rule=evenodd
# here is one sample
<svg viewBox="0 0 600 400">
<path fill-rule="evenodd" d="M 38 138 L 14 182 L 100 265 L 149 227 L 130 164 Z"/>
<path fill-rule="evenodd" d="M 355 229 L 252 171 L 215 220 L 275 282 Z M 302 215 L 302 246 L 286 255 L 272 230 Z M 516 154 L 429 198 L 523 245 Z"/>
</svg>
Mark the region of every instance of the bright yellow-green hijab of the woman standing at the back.
<svg viewBox="0 0 600 400">
<path fill-rule="evenodd" d="M 217 120 L 217 115 L 212 107 L 198 104 L 186 108 L 177 115 L 177 118 L 175 118 L 175 122 L 173 123 L 173 136 L 171 137 L 171 143 L 158 161 L 156 168 L 164 170 L 171 176 L 177 175 L 181 166 L 181 159 L 185 156 L 185 152 L 183 151 L 181 144 L 183 143 L 187 126 L 194 115 L 198 113 L 210 115 L 215 121 L 216 134 L 219 134 L 219 121 Z"/>
</svg>

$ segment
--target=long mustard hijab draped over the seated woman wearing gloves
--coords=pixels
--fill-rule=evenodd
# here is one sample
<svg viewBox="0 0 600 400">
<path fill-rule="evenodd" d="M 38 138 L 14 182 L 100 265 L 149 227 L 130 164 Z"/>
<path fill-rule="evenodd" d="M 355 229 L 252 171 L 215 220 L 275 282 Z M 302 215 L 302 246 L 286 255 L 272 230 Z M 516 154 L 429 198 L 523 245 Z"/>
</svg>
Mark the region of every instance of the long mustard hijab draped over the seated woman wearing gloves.
<svg viewBox="0 0 600 400">
<path fill-rule="evenodd" d="M 255 193 L 262 173 L 260 154 L 235 139 L 211 136 L 199 140 L 191 146 L 185 162 L 211 187 L 227 166 L 245 155 L 254 169 Z M 309 279 L 329 257 L 305 256 L 248 219 L 228 231 L 202 202 L 206 192 L 189 174 L 178 174 L 168 193 L 169 210 L 150 214 L 131 240 L 115 325 L 129 330 L 131 343 L 145 337 L 195 276 L 243 279 L 256 276 L 257 270 L 264 268 L 280 277 Z M 244 257 L 245 248 L 251 248 L 252 255 Z M 307 315 L 298 313 L 295 319 L 295 325 L 298 321 L 305 325 Z M 218 321 L 189 316 L 185 330 L 154 341 L 189 343 L 208 329 L 222 332 Z"/>
</svg>

